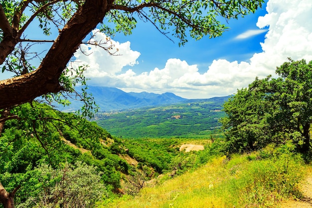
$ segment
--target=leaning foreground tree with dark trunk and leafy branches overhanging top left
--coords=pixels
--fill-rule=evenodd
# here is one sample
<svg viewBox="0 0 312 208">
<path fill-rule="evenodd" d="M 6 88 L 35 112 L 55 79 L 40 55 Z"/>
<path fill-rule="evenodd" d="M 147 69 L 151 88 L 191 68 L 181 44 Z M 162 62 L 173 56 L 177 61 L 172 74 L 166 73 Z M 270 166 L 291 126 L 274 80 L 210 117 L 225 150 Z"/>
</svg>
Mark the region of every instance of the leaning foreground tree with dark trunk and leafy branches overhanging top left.
<svg viewBox="0 0 312 208">
<path fill-rule="evenodd" d="M 16 76 L 0 81 L 0 125 L 14 119 L 11 109 L 32 101 L 38 96 L 59 97 L 59 92 L 71 91 L 75 79 L 70 80 L 66 66 L 74 52 L 92 29 L 100 24 L 101 31 L 130 34 L 136 18 L 150 22 L 167 35 L 172 34 L 183 45 L 187 38 L 200 39 L 203 35 L 220 36 L 227 27 L 218 16 L 238 18 L 255 10 L 264 0 L 0 0 L 0 64 L 2 72 Z M 136 15 L 136 18 L 135 18 Z M 51 27 L 57 28 L 54 40 L 26 39 L 27 28 L 38 20 L 46 36 Z M 31 44 L 51 42 L 38 66 L 31 66 Z M 111 45 L 97 44 L 110 51 Z M 104 43 L 107 43 L 104 41 Z M 80 73 L 81 69 L 78 69 Z M 75 71 L 74 71 L 75 72 Z M 80 76 L 83 78 L 83 76 Z M 83 81 L 83 80 L 82 80 Z M 51 94 L 52 93 L 52 94 Z M 13 207 L 9 194 L 0 186 L 0 201 L 5 208 Z M 10 195 L 13 196 L 13 193 Z"/>
</svg>

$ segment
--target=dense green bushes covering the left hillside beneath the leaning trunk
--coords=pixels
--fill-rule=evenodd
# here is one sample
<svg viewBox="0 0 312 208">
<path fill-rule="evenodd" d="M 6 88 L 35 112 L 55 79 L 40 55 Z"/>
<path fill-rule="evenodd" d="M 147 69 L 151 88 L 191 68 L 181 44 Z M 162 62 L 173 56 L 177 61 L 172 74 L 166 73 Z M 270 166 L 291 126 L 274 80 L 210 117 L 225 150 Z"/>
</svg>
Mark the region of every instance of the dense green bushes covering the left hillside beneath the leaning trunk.
<svg viewBox="0 0 312 208">
<path fill-rule="evenodd" d="M 1 133 L 0 181 L 7 191 L 21 185 L 16 204 L 38 195 L 36 180 L 40 177 L 32 170 L 40 164 L 56 169 L 60 164 L 83 161 L 101 171 L 101 183 L 108 192 L 120 187 L 120 172 L 127 174 L 129 165 L 113 154 L 122 152 L 122 143 L 118 139 L 115 143 L 96 123 L 36 102 L 17 106 L 12 112 L 19 119 L 6 121 Z"/>
</svg>

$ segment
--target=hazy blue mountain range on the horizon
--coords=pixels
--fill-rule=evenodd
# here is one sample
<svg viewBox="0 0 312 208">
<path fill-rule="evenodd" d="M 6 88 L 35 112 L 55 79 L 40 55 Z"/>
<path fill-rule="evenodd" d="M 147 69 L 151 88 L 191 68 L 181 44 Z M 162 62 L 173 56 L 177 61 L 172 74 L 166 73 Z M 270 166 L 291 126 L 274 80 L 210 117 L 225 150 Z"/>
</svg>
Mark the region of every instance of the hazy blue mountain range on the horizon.
<svg viewBox="0 0 312 208">
<path fill-rule="evenodd" d="M 80 93 L 81 90 L 77 89 Z M 148 93 L 148 92 L 124 92 L 113 87 L 89 86 L 88 93 L 92 93 L 96 104 L 100 107 L 99 111 L 126 110 L 149 106 L 173 104 L 186 101 L 187 99 L 176 96 L 173 93 Z M 67 107 L 60 107 L 63 111 L 75 111 L 82 106 L 82 102 L 71 100 L 72 104 Z"/>
</svg>

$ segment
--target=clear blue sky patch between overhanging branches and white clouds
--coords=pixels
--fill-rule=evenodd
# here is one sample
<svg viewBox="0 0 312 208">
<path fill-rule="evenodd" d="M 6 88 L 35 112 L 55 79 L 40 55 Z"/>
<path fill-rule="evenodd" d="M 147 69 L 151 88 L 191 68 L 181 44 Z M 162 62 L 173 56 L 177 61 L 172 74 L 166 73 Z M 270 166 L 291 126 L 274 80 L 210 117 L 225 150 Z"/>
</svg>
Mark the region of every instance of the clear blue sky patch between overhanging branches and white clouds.
<svg viewBox="0 0 312 208">
<path fill-rule="evenodd" d="M 200 40 L 189 39 L 188 42 L 179 47 L 178 40 L 172 42 L 150 23 L 139 22 L 132 35 L 125 36 L 117 34 L 114 40 L 119 42 L 131 42 L 131 49 L 139 51 L 139 64 L 134 66 L 136 72 L 144 72 L 155 67 L 164 67 L 169 58 L 186 60 L 188 64 L 197 64 L 199 71 L 204 72 L 207 66 L 214 59 L 225 58 L 229 61 L 245 61 L 250 58 L 250 54 L 261 51 L 260 42 L 264 41 L 264 29 L 260 34 L 248 36 L 242 39 L 235 39 L 236 36 L 248 31 L 258 30 L 256 26 L 258 16 L 266 13 L 265 5 L 255 14 L 250 14 L 238 20 L 232 19 L 228 23 L 221 19 L 229 30 L 221 37 L 203 37 Z M 169 36 L 172 38 L 172 36 Z M 126 67 L 127 68 L 127 67 Z"/>
</svg>

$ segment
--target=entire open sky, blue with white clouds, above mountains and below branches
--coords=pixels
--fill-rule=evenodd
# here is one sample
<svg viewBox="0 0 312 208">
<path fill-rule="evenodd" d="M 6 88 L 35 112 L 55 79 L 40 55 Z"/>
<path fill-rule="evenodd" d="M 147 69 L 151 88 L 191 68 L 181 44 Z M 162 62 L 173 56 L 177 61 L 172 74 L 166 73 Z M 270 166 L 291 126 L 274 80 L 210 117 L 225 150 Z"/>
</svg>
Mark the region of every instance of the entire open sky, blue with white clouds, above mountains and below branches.
<svg viewBox="0 0 312 208">
<path fill-rule="evenodd" d="M 312 60 L 311 14 L 312 0 L 267 0 L 255 14 L 224 21 L 230 29 L 221 37 L 189 39 L 181 47 L 152 24 L 138 22 L 131 35 L 110 40 L 120 55 L 81 45 L 70 66 L 89 65 L 85 76 L 92 86 L 188 99 L 227 96 L 257 76 L 274 75 L 288 57 Z M 93 33 L 95 41 L 106 40 L 97 29 Z M 30 32 L 28 38 L 40 35 Z"/>
</svg>

